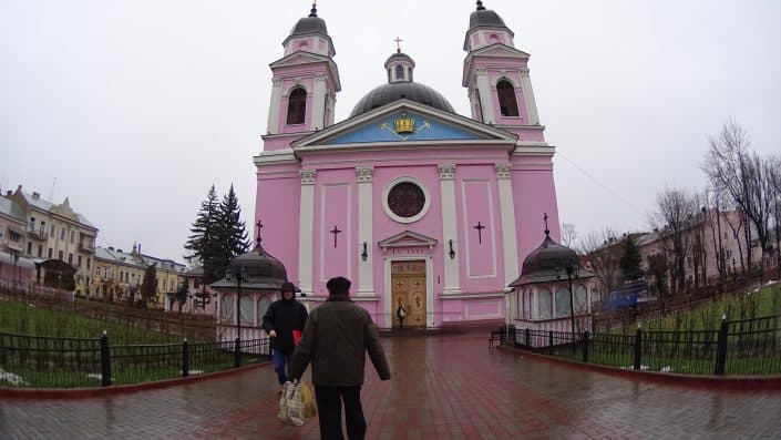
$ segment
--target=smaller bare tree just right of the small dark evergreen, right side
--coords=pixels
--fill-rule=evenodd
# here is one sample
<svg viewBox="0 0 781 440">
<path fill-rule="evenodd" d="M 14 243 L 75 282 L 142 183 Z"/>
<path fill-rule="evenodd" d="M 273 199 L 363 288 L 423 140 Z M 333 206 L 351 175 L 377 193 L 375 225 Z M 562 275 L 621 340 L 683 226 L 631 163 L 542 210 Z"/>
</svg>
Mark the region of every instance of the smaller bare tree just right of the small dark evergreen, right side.
<svg viewBox="0 0 781 440">
<path fill-rule="evenodd" d="M 686 190 L 666 187 L 656 195 L 656 209 L 649 221 L 659 229 L 659 244 L 672 259 L 670 279 L 679 293 L 686 287 L 686 257 L 693 242 L 690 229 L 697 223 L 697 198 Z"/>
</svg>

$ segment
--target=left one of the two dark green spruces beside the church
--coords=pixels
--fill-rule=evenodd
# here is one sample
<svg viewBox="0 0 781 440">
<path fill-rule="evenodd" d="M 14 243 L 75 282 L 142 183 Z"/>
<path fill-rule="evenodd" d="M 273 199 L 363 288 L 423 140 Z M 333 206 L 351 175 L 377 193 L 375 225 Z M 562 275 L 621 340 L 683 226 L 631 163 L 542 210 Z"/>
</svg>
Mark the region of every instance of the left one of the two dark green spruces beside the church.
<svg viewBox="0 0 781 440">
<path fill-rule="evenodd" d="M 197 259 L 204 268 L 205 284 L 214 283 L 222 278 L 222 272 L 215 266 L 215 260 L 219 259 L 219 202 L 217 192 L 212 185 L 206 199 L 201 203 L 198 216 L 191 227 L 191 235 L 185 243 L 185 249 L 189 250 L 188 258 Z M 224 267 L 223 267 L 224 269 Z"/>
</svg>

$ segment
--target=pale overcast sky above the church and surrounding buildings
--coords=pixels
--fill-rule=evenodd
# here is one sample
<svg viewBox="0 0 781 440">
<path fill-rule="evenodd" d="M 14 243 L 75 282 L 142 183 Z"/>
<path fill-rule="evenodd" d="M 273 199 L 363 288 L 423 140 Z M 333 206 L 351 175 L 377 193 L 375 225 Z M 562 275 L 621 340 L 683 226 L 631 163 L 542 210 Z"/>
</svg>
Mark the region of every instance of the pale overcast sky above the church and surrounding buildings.
<svg viewBox="0 0 781 440">
<path fill-rule="evenodd" d="M 559 216 L 580 237 L 647 229 L 665 185 L 702 188 L 708 137 L 729 117 L 758 152 L 781 152 L 781 1 L 484 4 L 532 55 Z M 0 0 L 2 191 L 68 196 L 100 228 L 99 245 L 140 242 L 182 260 L 209 186 L 222 195 L 233 183 L 251 234 L 268 64 L 310 6 Z M 337 121 L 386 82 L 397 35 L 415 80 L 470 115 L 461 70 L 474 9 L 320 1 L 341 75 Z"/>
</svg>

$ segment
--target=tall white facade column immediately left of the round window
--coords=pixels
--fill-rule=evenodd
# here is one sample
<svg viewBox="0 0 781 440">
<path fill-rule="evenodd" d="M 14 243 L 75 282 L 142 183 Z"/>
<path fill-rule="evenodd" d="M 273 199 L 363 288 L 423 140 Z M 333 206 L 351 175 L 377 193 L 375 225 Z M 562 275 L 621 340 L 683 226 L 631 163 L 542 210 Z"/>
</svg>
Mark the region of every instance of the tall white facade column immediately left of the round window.
<svg viewBox="0 0 781 440">
<path fill-rule="evenodd" d="M 356 166 L 358 175 L 358 293 L 357 296 L 374 295 L 374 249 L 372 246 L 372 197 L 371 166 Z M 363 245 L 366 244 L 367 259 L 363 260 Z"/>
</svg>

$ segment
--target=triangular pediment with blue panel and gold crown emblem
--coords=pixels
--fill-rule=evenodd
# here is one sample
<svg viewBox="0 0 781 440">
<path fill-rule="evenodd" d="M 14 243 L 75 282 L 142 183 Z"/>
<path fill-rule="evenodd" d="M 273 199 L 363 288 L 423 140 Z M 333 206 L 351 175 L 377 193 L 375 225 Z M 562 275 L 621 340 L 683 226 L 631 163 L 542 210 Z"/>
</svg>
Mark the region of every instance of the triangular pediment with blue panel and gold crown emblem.
<svg viewBox="0 0 781 440">
<path fill-rule="evenodd" d="M 469 117 L 399 100 L 294 142 L 292 147 L 300 151 L 316 145 L 515 140 L 513 133 Z"/>
</svg>

